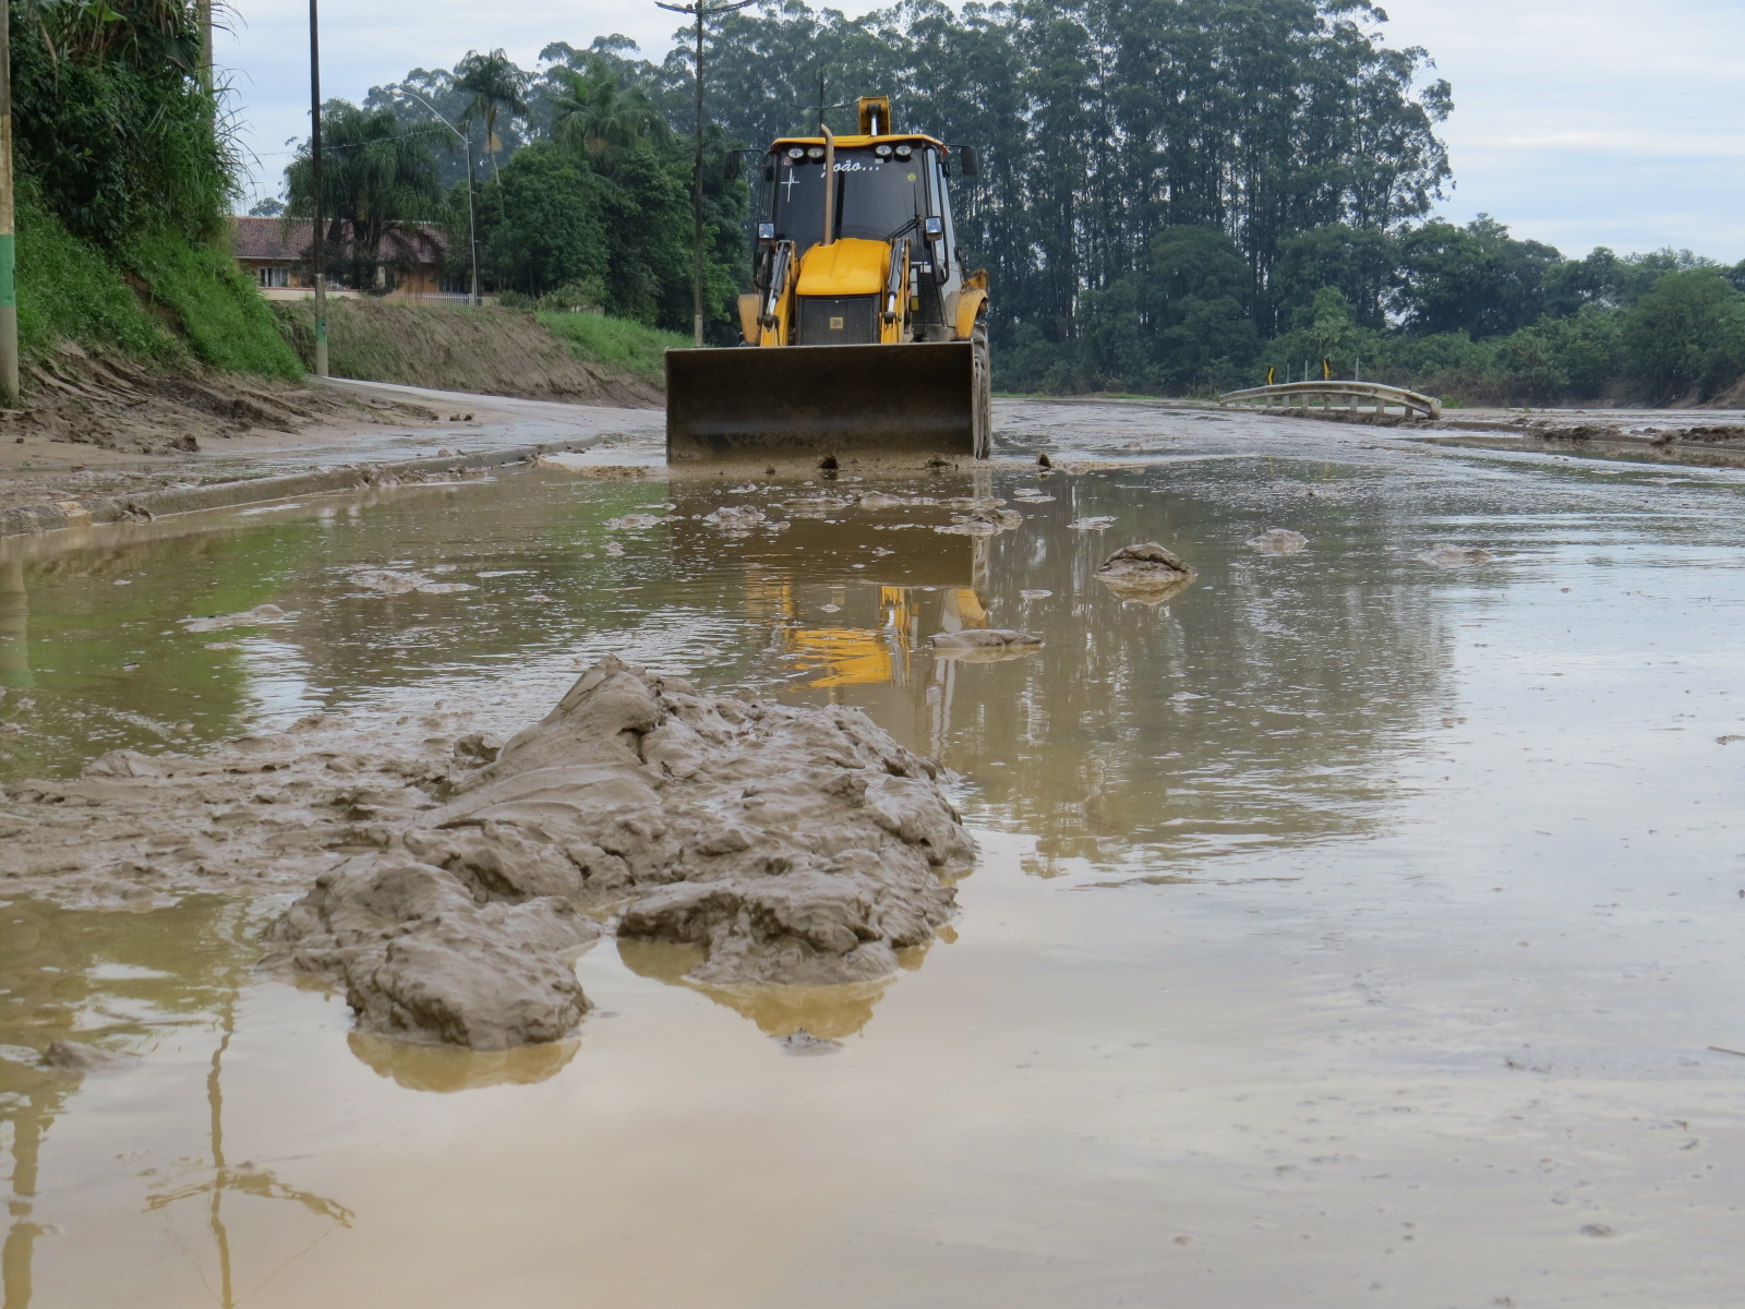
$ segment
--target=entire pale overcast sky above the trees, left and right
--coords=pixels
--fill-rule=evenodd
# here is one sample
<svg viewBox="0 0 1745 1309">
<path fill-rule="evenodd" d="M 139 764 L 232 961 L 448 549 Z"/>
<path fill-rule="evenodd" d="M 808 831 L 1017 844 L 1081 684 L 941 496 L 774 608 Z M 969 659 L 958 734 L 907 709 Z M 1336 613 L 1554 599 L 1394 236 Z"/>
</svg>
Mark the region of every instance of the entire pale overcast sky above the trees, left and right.
<svg viewBox="0 0 1745 1309">
<path fill-rule="evenodd" d="M 850 0 L 848 12 L 871 3 Z M 1441 211 L 1490 213 L 1567 255 L 1691 248 L 1745 258 L 1745 0 L 1393 0 L 1394 45 L 1422 45 L 1454 84 L 1455 187 Z M 272 194 L 286 138 L 307 134 L 307 0 L 237 0 L 218 61 Z M 326 0 L 321 89 L 359 99 L 410 68 L 621 31 L 649 56 L 675 16 L 653 2 Z"/>
</svg>

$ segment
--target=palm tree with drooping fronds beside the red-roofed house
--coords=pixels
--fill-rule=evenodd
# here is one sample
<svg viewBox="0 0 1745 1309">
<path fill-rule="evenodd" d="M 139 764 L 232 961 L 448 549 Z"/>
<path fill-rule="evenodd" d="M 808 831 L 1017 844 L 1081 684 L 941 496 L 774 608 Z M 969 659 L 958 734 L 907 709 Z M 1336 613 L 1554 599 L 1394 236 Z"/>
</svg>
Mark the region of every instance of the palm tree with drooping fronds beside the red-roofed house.
<svg viewBox="0 0 1745 1309">
<path fill-rule="evenodd" d="M 387 290 L 387 264 L 415 253 L 421 222 L 443 216 L 441 183 L 428 131 L 412 129 L 389 110 L 365 110 L 344 99 L 321 106 L 321 234 L 337 255 L 328 267 L 346 269 L 359 290 Z M 290 202 L 284 222 L 314 213 L 314 168 L 305 145 L 284 169 Z M 393 250 L 382 257 L 382 246 Z"/>
</svg>

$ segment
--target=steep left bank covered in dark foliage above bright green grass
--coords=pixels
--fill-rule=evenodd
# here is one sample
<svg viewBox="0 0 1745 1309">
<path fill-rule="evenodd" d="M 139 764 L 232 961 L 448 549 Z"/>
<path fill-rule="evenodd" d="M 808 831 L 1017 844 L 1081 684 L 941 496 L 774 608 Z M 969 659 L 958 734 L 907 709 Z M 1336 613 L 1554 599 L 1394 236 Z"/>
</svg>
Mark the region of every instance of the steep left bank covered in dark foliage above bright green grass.
<svg viewBox="0 0 1745 1309">
<path fill-rule="evenodd" d="M 19 339 L 300 375 L 229 255 L 236 157 L 183 0 L 9 0 Z"/>
</svg>

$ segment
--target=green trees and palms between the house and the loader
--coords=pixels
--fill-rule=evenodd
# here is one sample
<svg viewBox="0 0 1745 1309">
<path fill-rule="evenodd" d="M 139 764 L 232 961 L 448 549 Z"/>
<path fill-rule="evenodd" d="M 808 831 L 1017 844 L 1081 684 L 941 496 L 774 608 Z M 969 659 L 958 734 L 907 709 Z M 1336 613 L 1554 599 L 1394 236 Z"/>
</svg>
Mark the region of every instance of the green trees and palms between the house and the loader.
<svg viewBox="0 0 1745 1309">
<path fill-rule="evenodd" d="M 393 251 L 372 244 L 349 215 L 436 220 L 448 232 L 448 271 L 469 272 L 476 232 L 480 283 L 511 304 L 597 307 L 651 326 L 689 330 L 693 278 L 693 119 L 682 79 L 597 49 L 553 45 L 539 75 L 501 51 L 468 54 L 452 72 L 414 70 L 373 87 L 361 108 L 323 110 L 323 161 L 346 161 L 373 140 L 417 161 L 419 185 L 391 204 L 370 190 L 382 169 L 328 175 L 330 241 L 351 251 L 347 279 L 393 286 Z M 438 119 L 454 124 L 443 127 Z M 468 148 L 475 180 L 468 204 Z M 398 169 L 410 173 L 412 169 Z M 291 216 L 307 216 L 307 147 L 286 173 Z M 469 227 L 471 216 L 471 227 Z M 714 340 L 735 339 L 733 297 L 749 276 L 747 187 L 726 178 L 722 129 L 705 140 L 705 305 Z M 391 230 L 391 229 L 389 229 Z"/>
</svg>

